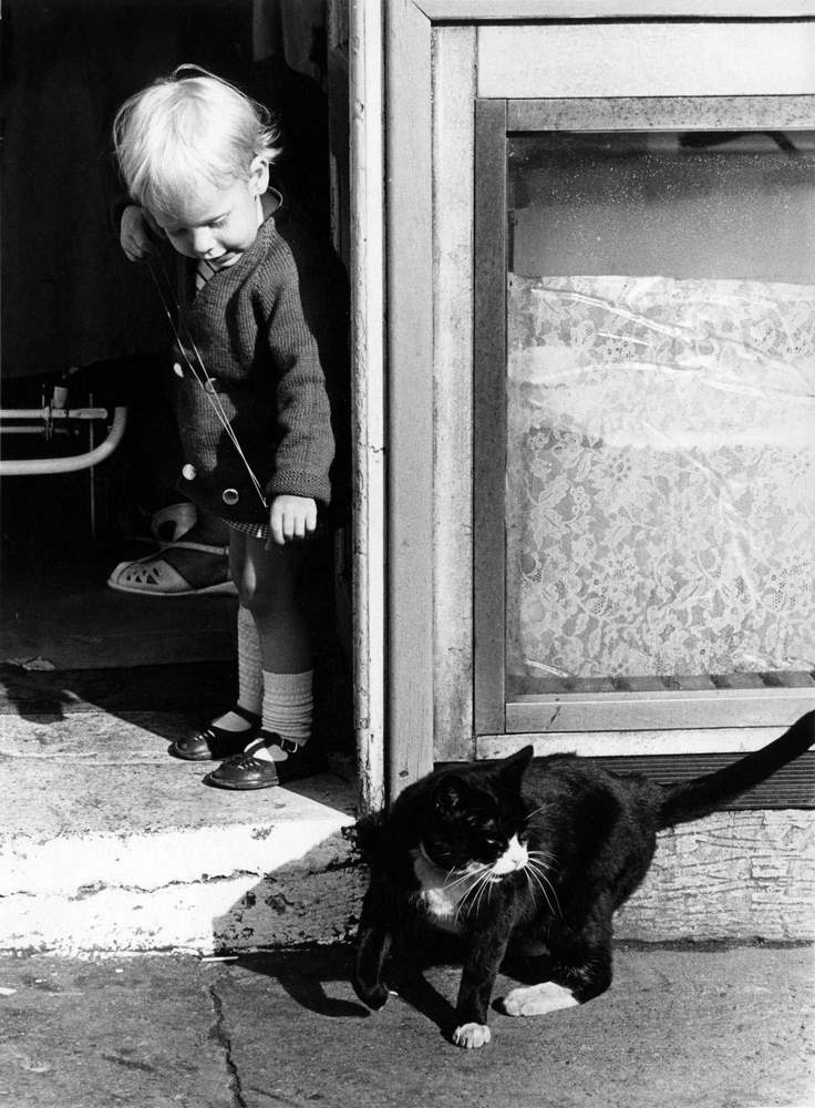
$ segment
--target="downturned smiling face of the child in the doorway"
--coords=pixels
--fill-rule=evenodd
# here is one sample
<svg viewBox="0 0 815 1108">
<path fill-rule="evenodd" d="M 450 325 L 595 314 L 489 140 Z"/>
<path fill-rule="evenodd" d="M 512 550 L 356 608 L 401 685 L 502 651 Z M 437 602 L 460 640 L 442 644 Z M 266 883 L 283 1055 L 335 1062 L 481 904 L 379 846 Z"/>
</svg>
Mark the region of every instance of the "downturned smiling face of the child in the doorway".
<svg viewBox="0 0 815 1108">
<path fill-rule="evenodd" d="M 202 182 L 196 195 L 172 215 L 153 213 L 173 246 L 187 258 L 228 261 L 243 254 L 258 233 L 258 196 L 268 184 L 258 174 L 227 186 Z"/>
</svg>

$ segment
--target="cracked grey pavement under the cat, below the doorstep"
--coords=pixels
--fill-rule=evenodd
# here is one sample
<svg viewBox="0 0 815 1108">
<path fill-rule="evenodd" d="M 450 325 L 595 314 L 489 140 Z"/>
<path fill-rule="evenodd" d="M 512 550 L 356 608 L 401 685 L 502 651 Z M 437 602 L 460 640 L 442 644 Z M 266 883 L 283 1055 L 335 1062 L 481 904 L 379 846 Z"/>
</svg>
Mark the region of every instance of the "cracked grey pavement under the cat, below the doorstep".
<svg viewBox="0 0 815 1108">
<path fill-rule="evenodd" d="M 0 958 L 0 1105 L 815 1105 L 812 947 L 620 944 L 607 994 L 532 1019 L 494 1013 L 474 1051 L 446 1038 L 455 965 L 402 966 L 400 995 L 370 1015 L 351 960 L 348 945 Z"/>
</svg>

